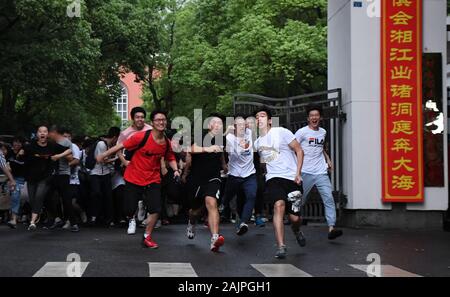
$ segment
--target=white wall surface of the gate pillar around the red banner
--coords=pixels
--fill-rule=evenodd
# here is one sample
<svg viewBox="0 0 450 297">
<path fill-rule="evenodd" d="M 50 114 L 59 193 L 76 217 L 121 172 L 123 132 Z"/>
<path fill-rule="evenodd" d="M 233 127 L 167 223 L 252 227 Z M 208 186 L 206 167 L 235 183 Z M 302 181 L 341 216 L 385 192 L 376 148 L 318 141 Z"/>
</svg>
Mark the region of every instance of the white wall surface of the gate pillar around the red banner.
<svg viewBox="0 0 450 297">
<path fill-rule="evenodd" d="M 424 3 L 424 48 L 446 53 L 446 32 L 441 32 L 446 31 L 446 2 Z M 368 16 L 368 5 L 368 1 L 363 1 L 362 8 L 353 7 L 353 1 L 328 1 L 328 88 L 342 88 L 343 110 L 347 113 L 343 136 L 346 208 L 391 209 L 391 203 L 381 201 L 381 23 L 379 17 Z M 446 187 L 426 188 L 425 195 L 426 203 L 411 204 L 408 209 L 447 209 L 447 169 Z"/>
</svg>

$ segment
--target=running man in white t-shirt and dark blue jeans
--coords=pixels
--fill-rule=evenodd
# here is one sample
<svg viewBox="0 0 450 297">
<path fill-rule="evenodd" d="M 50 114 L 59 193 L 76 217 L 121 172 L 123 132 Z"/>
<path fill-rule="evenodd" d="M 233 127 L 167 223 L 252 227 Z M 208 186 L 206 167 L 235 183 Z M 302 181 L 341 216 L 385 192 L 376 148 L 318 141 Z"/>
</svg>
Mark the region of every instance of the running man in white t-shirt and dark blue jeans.
<svg viewBox="0 0 450 297">
<path fill-rule="evenodd" d="M 228 179 L 225 186 L 224 204 L 227 206 L 231 199 L 242 191 L 245 201 L 238 205 L 239 224 L 236 234 L 244 235 L 248 231 L 247 223 L 252 216 L 255 207 L 256 170 L 253 164 L 253 140 L 252 131 L 246 129 L 245 119 L 237 116 L 234 125 L 228 127 L 226 133 L 226 151 L 228 152 Z"/>
</svg>

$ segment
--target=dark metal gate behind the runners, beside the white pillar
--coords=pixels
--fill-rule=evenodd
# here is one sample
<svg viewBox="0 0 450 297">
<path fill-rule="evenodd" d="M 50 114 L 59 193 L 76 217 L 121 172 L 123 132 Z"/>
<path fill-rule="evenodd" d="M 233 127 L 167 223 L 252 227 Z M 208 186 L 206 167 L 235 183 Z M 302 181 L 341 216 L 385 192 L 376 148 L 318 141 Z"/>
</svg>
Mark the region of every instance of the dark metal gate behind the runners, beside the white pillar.
<svg viewBox="0 0 450 297">
<path fill-rule="evenodd" d="M 274 126 L 281 126 L 295 133 L 307 125 L 306 107 L 311 104 L 321 105 L 323 121 L 321 126 L 327 130 L 326 151 L 333 161 L 334 170 L 330 175 L 333 196 L 336 203 L 336 215 L 339 219 L 347 199 L 343 192 L 342 166 L 342 126 L 346 115 L 341 109 L 341 89 L 333 89 L 287 98 L 271 98 L 256 94 L 236 94 L 233 100 L 234 113 L 253 114 L 261 106 L 271 109 Z M 278 120 L 278 122 L 277 122 Z M 304 219 L 308 221 L 325 221 L 322 199 L 314 187 L 308 202 L 303 206 Z"/>
</svg>

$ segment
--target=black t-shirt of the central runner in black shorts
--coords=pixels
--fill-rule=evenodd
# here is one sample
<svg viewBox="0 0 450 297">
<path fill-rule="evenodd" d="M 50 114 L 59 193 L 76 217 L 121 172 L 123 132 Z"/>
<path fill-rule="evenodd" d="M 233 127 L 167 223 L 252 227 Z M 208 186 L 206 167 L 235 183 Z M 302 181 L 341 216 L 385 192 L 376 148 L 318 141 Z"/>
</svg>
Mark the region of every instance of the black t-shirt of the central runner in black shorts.
<svg viewBox="0 0 450 297">
<path fill-rule="evenodd" d="M 216 138 L 207 132 L 203 134 L 202 141 L 203 143 L 196 143 L 197 146 L 210 147 L 216 144 Z M 225 144 L 224 138 L 221 141 L 222 143 L 217 143 L 217 145 L 223 146 Z M 205 184 L 213 178 L 220 178 L 222 156 L 223 152 L 192 154 L 191 174 L 194 183 Z"/>
</svg>

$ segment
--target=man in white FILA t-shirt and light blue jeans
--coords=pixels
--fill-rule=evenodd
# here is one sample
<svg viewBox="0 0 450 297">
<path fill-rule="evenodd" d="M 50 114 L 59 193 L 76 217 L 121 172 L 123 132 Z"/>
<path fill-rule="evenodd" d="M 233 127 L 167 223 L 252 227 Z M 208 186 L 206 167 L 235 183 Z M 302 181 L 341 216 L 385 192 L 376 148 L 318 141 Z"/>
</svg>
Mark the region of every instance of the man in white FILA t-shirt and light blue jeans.
<svg viewBox="0 0 450 297">
<path fill-rule="evenodd" d="M 309 192 L 315 185 L 325 206 L 328 239 L 335 239 L 341 236 L 343 232 L 334 227 L 336 224 L 336 205 L 332 195 L 330 178 L 328 177 L 328 170 L 333 168 L 333 164 L 323 149 L 327 131 L 320 127 L 322 108 L 320 106 L 308 106 L 306 112 L 308 126 L 295 133 L 295 137 L 302 146 L 305 155 L 302 168 L 303 203 L 306 202 Z"/>
</svg>

